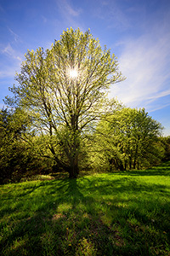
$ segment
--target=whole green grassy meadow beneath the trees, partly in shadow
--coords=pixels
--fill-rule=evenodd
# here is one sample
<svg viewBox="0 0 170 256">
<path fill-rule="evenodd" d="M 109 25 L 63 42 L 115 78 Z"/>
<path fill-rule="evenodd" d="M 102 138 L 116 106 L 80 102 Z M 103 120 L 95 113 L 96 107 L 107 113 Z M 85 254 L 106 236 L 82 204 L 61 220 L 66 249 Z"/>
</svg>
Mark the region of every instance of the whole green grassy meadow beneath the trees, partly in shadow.
<svg viewBox="0 0 170 256">
<path fill-rule="evenodd" d="M 0 193 L 2 255 L 170 255 L 170 162 Z"/>
</svg>

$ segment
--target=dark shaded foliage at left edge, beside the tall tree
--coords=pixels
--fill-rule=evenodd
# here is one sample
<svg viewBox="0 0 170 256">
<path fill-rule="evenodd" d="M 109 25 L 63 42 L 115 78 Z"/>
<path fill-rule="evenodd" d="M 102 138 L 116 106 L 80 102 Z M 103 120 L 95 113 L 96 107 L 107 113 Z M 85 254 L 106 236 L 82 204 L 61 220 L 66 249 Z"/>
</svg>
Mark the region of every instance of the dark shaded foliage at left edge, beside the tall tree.
<svg viewBox="0 0 170 256">
<path fill-rule="evenodd" d="M 20 181 L 24 175 L 50 171 L 50 163 L 35 156 L 32 144 L 26 143 L 29 118 L 21 111 L 0 111 L 0 183 Z M 47 172 L 47 171 L 46 171 Z"/>
</svg>

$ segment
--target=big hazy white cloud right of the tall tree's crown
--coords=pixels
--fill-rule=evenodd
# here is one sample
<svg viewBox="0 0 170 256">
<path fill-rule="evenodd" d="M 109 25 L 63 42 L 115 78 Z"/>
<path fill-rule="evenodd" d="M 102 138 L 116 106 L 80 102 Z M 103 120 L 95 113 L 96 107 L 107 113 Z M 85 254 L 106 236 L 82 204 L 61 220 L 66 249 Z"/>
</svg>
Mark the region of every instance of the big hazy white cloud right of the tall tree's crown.
<svg viewBox="0 0 170 256">
<path fill-rule="evenodd" d="M 150 108 L 150 103 L 170 95 L 170 33 L 145 33 L 122 44 L 120 70 L 127 79 L 115 85 L 111 96 L 117 96 L 130 107 Z M 162 106 L 161 106 L 162 107 Z M 153 111 L 153 110 L 152 110 Z"/>
</svg>

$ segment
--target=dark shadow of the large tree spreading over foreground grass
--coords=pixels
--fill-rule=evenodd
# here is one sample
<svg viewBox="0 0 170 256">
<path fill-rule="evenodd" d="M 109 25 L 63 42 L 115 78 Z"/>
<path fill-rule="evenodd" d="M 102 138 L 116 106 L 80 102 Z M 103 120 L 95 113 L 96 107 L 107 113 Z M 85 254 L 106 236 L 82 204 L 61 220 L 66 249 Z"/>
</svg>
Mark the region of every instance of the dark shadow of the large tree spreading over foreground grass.
<svg viewBox="0 0 170 256">
<path fill-rule="evenodd" d="M 82 177 L 41 183 L 35 191 L 29 190 L 35 198 L 30 199 L 27 191 L 20 197 L 20 209 L 15 209 L 15 212 L 26 209 L 29 216 L 4 224 L 7 232 L 1 241 L 3 255 L 155 255 L 151 246 L 156 247 L 159 242 L 158 246 L 165 247 L 165 241 L 170 241 L 167 236 L 170 221 L 164 224 L 159 219 L 163 209 L 168 212 L 170 207 L 164 204 L 160 212 L 157 208 L 153 218 L 148 212 L 154 204 L 158 205 L 156 199 L 152 198 L 151 206 L 144 201 L 140 206 L 138 196 L 127 199 L 123 193 L 137 195 L 161 189 L 166 191 L 158 185 L 127 182 L 126 177 L 115 180 Z M 102 200 L 107 195 L 113 196 Z M 30 208 L 26 208 L 26 200 L 31 200 L 27 206 Z M 145 211 L 142 207 L 146 207 Z M 163 218 L 166 217 L 165 212 Z M 161 236 L 150 234 L 147 225 Z"/>
</svg>

